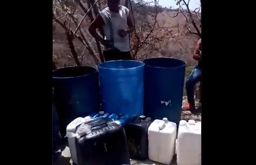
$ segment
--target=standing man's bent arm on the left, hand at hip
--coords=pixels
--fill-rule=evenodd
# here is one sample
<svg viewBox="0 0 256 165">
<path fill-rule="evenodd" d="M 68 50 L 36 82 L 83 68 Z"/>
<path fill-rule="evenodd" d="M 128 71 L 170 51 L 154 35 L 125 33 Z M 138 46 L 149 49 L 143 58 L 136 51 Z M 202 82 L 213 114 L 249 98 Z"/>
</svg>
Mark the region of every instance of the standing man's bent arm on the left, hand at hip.
<svg viewBox="0 0 256 165">
<path fill-rule="evenodd" d="M 101 44 L 104 45 L 104 39 L 100 37 L 98 32 L 96 31 L 97 28 L 101 28 L 105 25 L 103 18 L 101 15 L 98 15 L 96 19 L 91 23 L 90 27 L 88 28 L 88 31 L 90 34 L 92 34 L 93 37 L 95 37 L 96 40 L 99 40 Z"/>
</svg>

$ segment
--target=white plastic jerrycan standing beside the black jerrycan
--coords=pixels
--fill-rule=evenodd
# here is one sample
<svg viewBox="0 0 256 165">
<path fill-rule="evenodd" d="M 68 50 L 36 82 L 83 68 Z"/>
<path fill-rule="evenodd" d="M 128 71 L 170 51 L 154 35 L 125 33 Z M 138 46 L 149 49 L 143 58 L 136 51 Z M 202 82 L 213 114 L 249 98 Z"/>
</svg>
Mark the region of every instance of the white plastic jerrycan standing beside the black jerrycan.
<svg viewBox="0 0 256 165">
<path fill-rule="evenodd" d="M 176 134 L 176 123 L 168 121 L 168 118 L 154 120 L 149 126 L 149 159 L 165 165 L 171 164 Z"/>
</svg>

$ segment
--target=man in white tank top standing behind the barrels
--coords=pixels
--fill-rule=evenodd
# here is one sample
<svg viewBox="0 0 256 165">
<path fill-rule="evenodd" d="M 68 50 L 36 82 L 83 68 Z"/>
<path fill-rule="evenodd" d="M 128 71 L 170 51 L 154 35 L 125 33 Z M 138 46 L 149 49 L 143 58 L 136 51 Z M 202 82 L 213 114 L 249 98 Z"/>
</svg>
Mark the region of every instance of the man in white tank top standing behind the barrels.
<svg viewBox="0 0 256 165">
<path fill-rule="evenodd" d="M 105 46 L 105 61 L 132 59 L 129 33 L 133 31 L 133 21 L 129 9 L 119 3 L 120 0 L 107 0 L 107 7 L 100 11 L 88 29 Z M 104 38 L 99 36 L 97 28 L 104 30 Z"/>
</svg>

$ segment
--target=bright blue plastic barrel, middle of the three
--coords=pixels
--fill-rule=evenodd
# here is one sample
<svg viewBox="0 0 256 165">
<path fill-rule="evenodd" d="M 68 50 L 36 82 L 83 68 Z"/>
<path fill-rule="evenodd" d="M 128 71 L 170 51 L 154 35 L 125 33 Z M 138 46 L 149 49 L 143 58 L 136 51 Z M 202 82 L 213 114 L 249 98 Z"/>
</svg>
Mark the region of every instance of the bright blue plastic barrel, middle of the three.
<svg viewBox="0 0 256 165">
<path fill-rule="evenodd" d="M 108 61 L 98 65 L 104 112 L 128 116 L 143 113 L 144 65 L 133 60 Z"/>
</svg>

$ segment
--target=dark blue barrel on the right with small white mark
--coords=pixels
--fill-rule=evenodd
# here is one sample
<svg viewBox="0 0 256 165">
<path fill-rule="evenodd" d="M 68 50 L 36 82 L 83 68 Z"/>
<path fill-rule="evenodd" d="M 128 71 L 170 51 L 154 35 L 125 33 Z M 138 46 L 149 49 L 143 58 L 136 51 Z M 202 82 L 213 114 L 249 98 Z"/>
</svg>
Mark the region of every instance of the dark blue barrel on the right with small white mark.
<svg viewBox="0 0 256 165">
<path fill-rule="evenodd" d="M 180 121 L 186 63 L 173 58 L 145 59 L 144 115 Z"/>
</svg>

